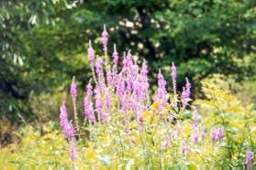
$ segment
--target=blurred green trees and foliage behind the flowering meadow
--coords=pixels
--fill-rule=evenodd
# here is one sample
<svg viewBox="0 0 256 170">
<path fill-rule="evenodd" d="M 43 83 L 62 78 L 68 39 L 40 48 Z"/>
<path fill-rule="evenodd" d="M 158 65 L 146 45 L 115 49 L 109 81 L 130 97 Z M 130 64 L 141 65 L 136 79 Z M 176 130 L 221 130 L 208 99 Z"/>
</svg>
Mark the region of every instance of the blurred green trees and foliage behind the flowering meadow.
<svg viewBox="0 0 256 170">
<path fill-rule="evenodd" d="M 171 85 L 174 62 L 178 88 L 187 77 L 194 98 L 208 79 L 255 103 L 255 23 L 255 0 L 1 0 L 1 129 L 58 120 L 72 76 L 80 91 L 91 76 L 89 39 L 103 54 L 104 24 L 109 55 L 116 43 L 120 56 L 146 59 L 152 84 L 162 69 Z"/>
</svg>

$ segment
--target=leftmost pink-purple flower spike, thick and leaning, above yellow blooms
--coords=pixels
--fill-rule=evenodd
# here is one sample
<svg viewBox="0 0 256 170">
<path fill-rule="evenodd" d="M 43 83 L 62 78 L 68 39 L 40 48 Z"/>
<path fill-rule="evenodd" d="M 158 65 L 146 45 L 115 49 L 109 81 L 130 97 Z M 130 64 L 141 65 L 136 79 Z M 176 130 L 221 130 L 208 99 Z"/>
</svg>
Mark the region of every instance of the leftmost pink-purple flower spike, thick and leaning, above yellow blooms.
<svg viewBox="0 0 256 170">
<path fill-rule="evenodd" d="M 65 101 L 63 101 L 61 105 L 60 125 L 61 125 L 61 130 L 64 133 L 65 137 L 67 139 L 72 139 L 74 136 L 73 126 L 71 122 L 68 122 L 68 113 L 67 113 Z"/>
</svg>

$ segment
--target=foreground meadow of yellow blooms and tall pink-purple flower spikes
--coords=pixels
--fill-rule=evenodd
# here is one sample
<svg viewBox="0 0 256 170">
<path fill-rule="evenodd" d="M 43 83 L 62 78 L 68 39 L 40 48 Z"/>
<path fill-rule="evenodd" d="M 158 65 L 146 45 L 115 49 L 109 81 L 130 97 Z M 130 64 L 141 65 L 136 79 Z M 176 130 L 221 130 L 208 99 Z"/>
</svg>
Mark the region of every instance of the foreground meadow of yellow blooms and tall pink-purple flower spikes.
<svg viewBox="0 0 256 170">
<path fill-rule="evenodd" d="M 89 42 L 92 78 L 85 90 L 77 79 L 60 103 L 58 122 L 33 124 L 12 135 L 21 138 L 0 150 L 0 165 L 12 168 L 63 169 L 253 169 L 256 153 L 256 111 L 217 82 L 201 81 L 204 98 L 193 100 L 192 82 L 177 90 L 161 69 L 157 87 L 148 66 L 132 51 L 110 54 L 106 27 L 103 52 Z M 102 55 L 96 55 L 102 54 Z M 82 104 L 83 103 L 83 104 Z M 79 109 L 83 105 L 83 109 Z"/>
</svg>

